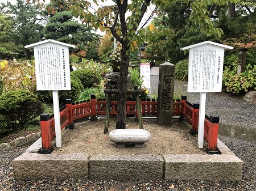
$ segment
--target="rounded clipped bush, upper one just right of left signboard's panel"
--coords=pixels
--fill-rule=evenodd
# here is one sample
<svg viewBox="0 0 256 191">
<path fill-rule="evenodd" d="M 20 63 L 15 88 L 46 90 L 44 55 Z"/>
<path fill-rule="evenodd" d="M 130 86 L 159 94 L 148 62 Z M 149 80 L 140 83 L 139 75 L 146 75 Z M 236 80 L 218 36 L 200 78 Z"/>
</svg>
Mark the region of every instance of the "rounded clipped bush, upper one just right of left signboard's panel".
<svg viewBox="0 0 256 191">
<path fill-rule="evenodd" d="M 93 87 L 94 84 L 100 84 L 101 76 L 100 74 L 94 72 L 90 69 L 79 69 L 71 72 L 72 75 L 75 75 L 82 82 L 82 85 L 85 88 Z"/>
</svg>

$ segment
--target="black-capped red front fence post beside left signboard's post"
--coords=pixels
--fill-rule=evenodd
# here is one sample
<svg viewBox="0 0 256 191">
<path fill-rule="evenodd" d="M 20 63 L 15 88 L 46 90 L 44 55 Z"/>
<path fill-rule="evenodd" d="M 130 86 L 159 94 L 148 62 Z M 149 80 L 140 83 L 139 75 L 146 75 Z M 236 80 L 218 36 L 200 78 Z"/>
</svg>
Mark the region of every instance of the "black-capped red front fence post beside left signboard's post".
<svg viewBox="0 0 256 191">
<path fill-rule="evenodd" d="M 51 128 L 49 125 L 49 114 L 40 114 L 40 126 L 42 134 L 42 148 L 40 148 L 40 154 L 51 154 L 53 147 L 51 147 Z"/>
</svg>

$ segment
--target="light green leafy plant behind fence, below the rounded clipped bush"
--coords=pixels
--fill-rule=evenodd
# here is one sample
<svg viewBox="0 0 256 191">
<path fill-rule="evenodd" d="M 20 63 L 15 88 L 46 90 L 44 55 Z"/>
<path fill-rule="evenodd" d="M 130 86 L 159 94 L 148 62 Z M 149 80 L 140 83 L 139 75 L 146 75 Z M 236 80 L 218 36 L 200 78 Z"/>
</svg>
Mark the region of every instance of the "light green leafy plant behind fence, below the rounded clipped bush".
<svg viewBox="0 0 256 191">
<path fill-rule="evenodd" d="M 90 95 L 96 95 L 97 99 L 104 99 L 105 94 L 102 88 L 85 88 L 78 96 L 76 101 L 90 100 Z"/>
</svg>

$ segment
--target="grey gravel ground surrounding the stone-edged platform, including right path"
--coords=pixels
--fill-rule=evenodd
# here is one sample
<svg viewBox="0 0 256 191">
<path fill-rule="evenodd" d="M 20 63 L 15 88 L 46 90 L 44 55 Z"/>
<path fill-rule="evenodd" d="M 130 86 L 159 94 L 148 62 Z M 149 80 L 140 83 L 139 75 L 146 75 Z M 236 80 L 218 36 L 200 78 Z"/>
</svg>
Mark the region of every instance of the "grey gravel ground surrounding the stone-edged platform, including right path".
<svg viewBox="0 0 256 191">
<path fill-rule="evenodd" d="M 181 87 L 185 88 L 182 84 Z M 188 94 L 188 101 L 199 102 L 199 94 Z M 237 138 L 227 137 L 230 133 L 220 135 L 219 138 L 241 160 L 243 160 L 243 176 L 239 182 L 205 182 L 196 181 L 94 181 L 94 180 L 43 180 L 43 181 L 16 181 L 12 161 L 27 148 L 17 147 L 0 153 L 0 190 L 251 190 L 256 191 L 256 104 L 247 103 L 242 97 L 233 97 L 224 93 L 207 94 L 207 114 L 221 116 L 221 126 L 237 126 L 242 129 Z M 249 131 L 246 131 L 248 130 Z M 227 132 L 230 132 L 229 130 Z M 243 134 L 249 132 L 246 139 Z"/>
</svg>

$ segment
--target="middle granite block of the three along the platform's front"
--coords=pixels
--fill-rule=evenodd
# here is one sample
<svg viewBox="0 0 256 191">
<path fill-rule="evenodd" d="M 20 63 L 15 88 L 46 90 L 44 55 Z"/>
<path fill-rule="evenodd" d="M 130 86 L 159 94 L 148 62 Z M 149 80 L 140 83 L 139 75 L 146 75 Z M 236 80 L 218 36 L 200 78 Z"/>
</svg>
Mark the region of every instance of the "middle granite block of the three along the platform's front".
<svg viewBox="0 0 256 191">
<path fill-rule="evenodd" d="M 90 159 L 90 179 L 156 180 L 162 179 L 162 155 L 96 155 Z"/>
</svg>

